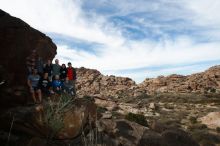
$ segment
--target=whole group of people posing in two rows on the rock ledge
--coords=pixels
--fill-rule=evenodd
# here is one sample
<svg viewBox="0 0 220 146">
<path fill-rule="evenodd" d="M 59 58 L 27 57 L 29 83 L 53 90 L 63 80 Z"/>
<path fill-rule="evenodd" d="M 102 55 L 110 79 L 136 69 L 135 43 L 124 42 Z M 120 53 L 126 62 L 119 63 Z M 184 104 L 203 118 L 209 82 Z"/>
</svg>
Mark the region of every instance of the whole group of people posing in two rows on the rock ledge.
<svg viewBox="0 0 220 146">
<path fill-rule="evenodd" d="M 46 64 L 39 58 L 36 60 L 31 73 L 28 75 L 27 84 L 35 103 L 42 102 L 42 94 L 61 94 L 65 92 L 72 96 L 76 95 L 75 81 L 76 70 L 69 62 L 59 65 L 59 60 L 55 64 L 48 60 Z M 37 96 L 36 96 L 37 95 Z"/>
</svg>

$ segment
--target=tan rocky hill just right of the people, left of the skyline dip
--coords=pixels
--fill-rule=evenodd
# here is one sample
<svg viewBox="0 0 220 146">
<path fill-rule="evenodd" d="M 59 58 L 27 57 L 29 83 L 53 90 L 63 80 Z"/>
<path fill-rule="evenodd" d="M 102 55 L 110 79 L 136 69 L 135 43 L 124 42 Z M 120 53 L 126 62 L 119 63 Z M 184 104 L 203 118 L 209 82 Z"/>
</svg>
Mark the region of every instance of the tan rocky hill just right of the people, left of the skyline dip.
<svg viewBox="0 0 220 146">
<path fill-rule="evenodd" d="M 94 95 L 99 97 L 127 97 L 133 96 L 136 84 L 126 77 L 104 76 L 94 69 L 77 69 L 77 94 Z"/>
</svg>

